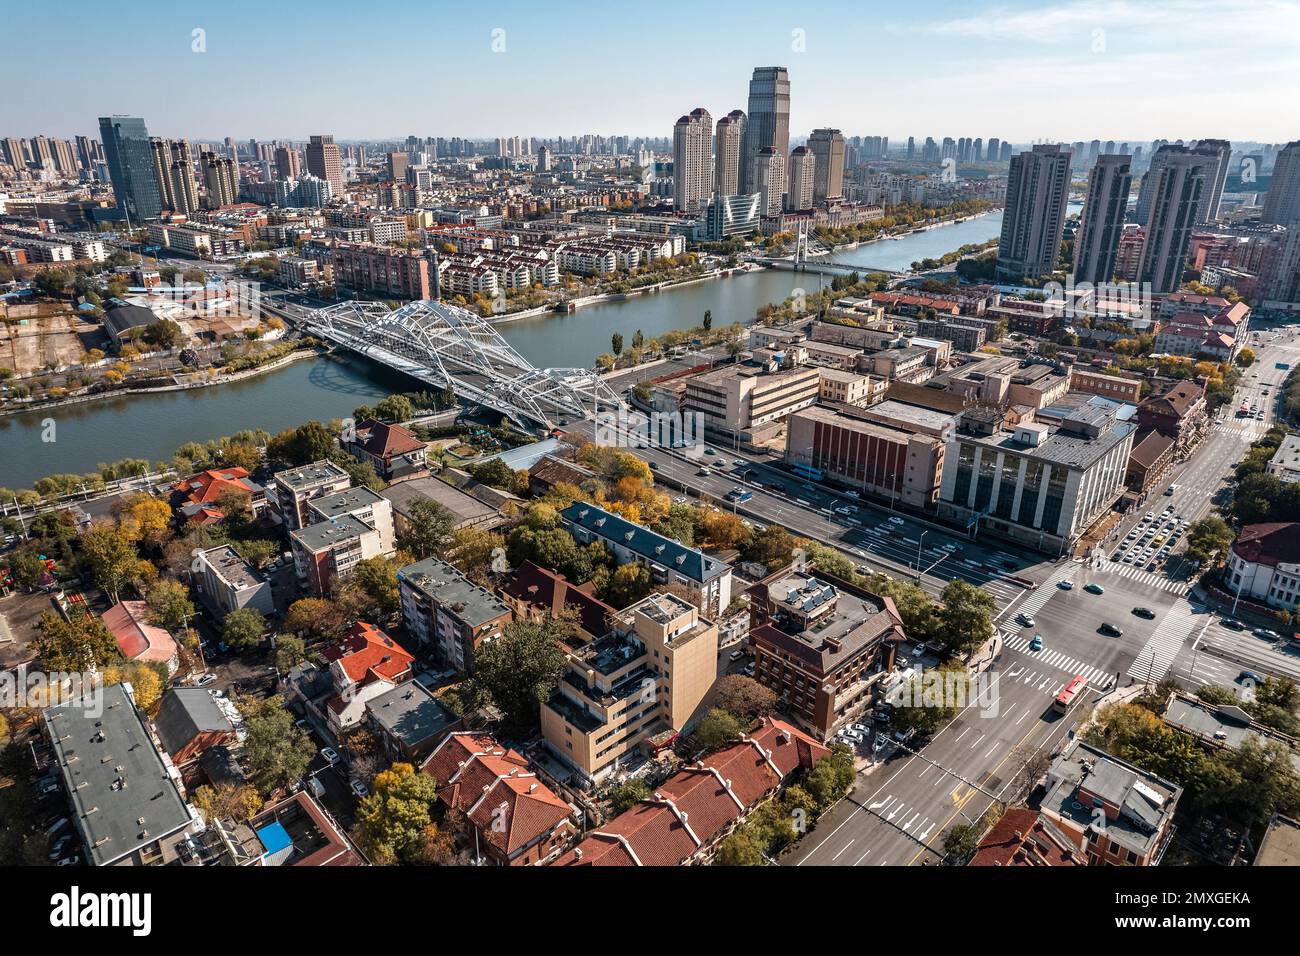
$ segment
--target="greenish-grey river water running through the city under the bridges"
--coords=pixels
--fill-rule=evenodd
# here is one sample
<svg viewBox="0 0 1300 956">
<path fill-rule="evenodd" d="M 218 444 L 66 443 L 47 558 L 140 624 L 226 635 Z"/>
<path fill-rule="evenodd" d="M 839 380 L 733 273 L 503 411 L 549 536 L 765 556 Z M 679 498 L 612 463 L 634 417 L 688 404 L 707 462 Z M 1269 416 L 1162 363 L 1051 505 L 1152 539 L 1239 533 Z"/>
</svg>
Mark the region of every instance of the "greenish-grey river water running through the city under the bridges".
<svg viewBox="0 0 1300 956">
<path fill-rule="evenodd" d="M 822 261 L 881 269 L 906 269 L 970 242 L 996 238 L 1002 213 L 992 212 L 953 225 L 936 226 L 901 239 L 884 239 L 836 252 Z M 520 319 L 500 333 L 526 359 L 542 368 L 589 367 L 610 351 L 615 332 L 630 342 L 640 329 L 646 338 L 699 325 L 705 311 L 714 326 L 750 323 L 759 306 L 780 302 L 797 287 L 815 290 L 828 276 L 764 269 L 710 280 L 655 295 L 607 302 L 572 315 Z M 358 356 L 296 362 L 286 368 L 229 385 L 166 392 L 47 408 L 0 418 L 0 486 L 26 488 L 53 473 L 82 473 L 121 458 L 166 460 L 187 441 L 207 441 L 244 428 L 276 432 L 309 419 L 328 421 L 350 415 L 391 392 L 416 388 L 410 378 Z M 53 420 L 55 441 L 47 419 Z"/>
</svg>

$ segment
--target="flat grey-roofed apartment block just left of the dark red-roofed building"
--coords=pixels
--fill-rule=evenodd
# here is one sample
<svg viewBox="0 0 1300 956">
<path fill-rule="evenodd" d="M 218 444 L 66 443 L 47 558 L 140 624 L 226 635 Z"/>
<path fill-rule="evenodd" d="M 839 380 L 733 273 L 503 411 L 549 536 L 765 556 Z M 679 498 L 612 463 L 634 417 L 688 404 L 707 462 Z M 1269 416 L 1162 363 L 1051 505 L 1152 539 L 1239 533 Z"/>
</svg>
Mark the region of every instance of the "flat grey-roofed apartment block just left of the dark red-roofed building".
<svg viewBox="0 0 1300 956">
<path fill-rule="evenodd" d="M 512 618 L 495 594 L 438 558 L 399 570 L 398 591 L 407 631 L 456 671 L 473 671 L 474 650 L 500 637 Z"/>
</svg>

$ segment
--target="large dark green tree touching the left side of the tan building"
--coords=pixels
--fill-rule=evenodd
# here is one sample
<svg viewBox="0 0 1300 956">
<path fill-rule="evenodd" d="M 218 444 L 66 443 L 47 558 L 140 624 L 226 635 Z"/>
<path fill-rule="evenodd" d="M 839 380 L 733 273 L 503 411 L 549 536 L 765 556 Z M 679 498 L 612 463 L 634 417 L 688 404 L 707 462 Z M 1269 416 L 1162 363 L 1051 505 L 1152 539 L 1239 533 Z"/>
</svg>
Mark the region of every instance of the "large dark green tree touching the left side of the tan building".
<svg viewBox="0 0 1300 956">
<path fill-rule="evenodd" d="M 573 627 L 564 615 L 512 620 L 499 640 L 474 652 L 474 691 L 502 711 L 512 734 L 523 735 L 537 726 L 540 705 L 568 666 L 560 644 L 572 637 Z"/>
</svg>

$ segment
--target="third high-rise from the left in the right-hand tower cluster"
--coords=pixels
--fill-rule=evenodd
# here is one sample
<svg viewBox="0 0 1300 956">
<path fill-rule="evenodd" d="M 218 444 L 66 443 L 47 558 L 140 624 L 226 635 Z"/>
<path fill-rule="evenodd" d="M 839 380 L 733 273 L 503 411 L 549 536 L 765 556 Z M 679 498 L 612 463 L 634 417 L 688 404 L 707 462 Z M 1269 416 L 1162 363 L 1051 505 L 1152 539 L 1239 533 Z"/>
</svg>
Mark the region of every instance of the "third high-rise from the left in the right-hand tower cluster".
<svg viewBox="0 0 1300 956">
<path fill-rule="evenodd" d="M 1213 155 L 1182 146 L 1166 146 L 1161 152 L 1165 159 L 1153 176 L 1139 273 L 1156 294 L 1178 290 L 1192 230 L 1204 208 L 1210 177 L 1217 173 Z"/>
</svg>

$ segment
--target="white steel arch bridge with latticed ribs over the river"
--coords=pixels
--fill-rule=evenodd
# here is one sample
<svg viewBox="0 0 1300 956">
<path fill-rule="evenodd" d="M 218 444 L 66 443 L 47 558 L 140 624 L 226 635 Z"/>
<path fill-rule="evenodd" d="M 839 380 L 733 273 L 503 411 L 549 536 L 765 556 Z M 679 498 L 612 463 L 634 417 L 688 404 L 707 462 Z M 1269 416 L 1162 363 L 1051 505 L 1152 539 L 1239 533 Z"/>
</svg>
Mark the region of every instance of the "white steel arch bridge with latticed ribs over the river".
<svg viewBox="0 0 1300 956">
<path fill-rule="evenodd" d="M 589 419 L 623 399 L 585 368 L 536 368 L 491 323 L 429 299 L 390 310 L 381 302 L 341 302 L 307 319 L 313 334 L 458 397 L 545 429 L 558 419 Z"/>
</svg>

